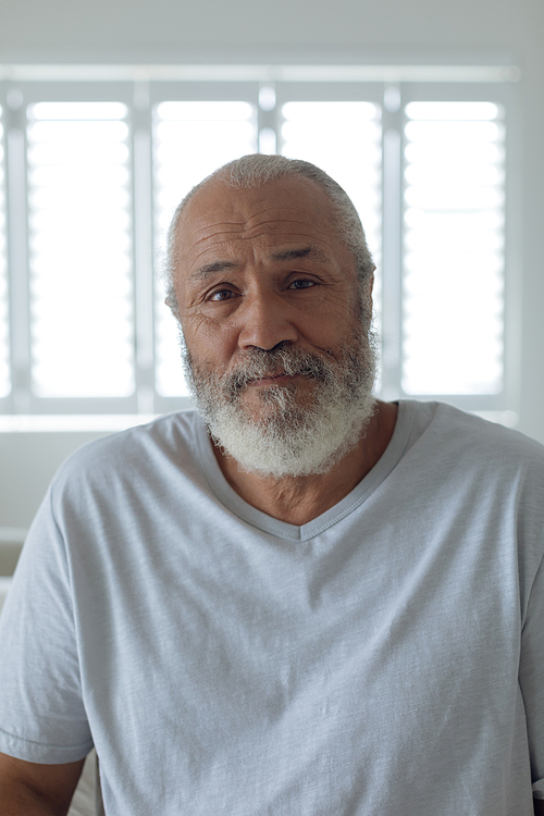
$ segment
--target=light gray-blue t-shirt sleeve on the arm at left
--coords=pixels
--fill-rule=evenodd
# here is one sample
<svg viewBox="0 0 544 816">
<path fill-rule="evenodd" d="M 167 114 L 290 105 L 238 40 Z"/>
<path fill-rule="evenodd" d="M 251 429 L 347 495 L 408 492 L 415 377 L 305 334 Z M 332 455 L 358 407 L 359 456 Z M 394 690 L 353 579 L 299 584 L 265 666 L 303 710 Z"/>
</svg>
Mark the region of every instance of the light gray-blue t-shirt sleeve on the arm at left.
<svg viewBox="0 0 544 816">
<path fill-rule="evenodd" d="M 0 751 L 57 764 L 81 759 L 91 747 L 70 564 L 50 490 L 0 617 Z"/>
</svg>

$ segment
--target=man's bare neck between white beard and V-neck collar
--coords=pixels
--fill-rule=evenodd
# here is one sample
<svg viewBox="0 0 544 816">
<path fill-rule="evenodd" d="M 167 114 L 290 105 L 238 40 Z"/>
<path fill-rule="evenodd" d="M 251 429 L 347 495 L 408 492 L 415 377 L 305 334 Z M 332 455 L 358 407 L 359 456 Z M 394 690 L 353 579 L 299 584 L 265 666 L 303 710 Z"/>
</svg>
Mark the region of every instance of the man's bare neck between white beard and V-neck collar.
<svg viewBox="0 0 544 816">
<path fill-rule="evenodd" d="M 242 470 L 218 447 L 214 453 L 226 481 L 245 502 L 280 521 L 301 526 L 334 507 L 372 470 L 390 443 L 396 418 L 396 405 L 378 401 L 357 446 L 319 475 L 259 477 Z"/>
</svg>

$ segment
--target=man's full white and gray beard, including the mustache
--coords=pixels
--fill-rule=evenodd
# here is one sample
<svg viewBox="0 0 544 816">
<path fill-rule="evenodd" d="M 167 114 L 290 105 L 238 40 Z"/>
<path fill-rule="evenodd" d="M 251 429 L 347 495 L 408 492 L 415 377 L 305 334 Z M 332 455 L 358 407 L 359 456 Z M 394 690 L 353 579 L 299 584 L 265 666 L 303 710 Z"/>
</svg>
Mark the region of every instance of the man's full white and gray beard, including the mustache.
<svg viewBox="0 0 544 816">
<path fill-rule="evenodd" d="M 374 411 L 375 355 L 367 335 L 345 342 L 338 360 L 289 346 L 256 348 L 224 375 L 193 359 L 184 345 L 182 356 L 212 440 L 240 468 L 261 477 L 327 472 L 357 445 Z M 254 419 L 243 399 L 247 383 L 271 372 L 307 378 L 307 405 L 299 404 L 295 384 L 271 385 L 259 392 L 262 411 Z"/>
</svg>

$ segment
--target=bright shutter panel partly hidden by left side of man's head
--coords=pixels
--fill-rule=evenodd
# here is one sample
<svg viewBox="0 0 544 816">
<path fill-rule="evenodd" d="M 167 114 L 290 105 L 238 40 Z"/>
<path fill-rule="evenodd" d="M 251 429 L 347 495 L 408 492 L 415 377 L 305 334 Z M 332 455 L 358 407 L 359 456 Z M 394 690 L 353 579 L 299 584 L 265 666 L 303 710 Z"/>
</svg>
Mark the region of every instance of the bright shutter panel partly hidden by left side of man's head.
<svg viewBox="0 0 544 816">
<path fill-rule="evenodd" d="M 175 208 L 195 184 L 257 151 L 257 113 L 249 102 L 162 102 L 153 116 L 154 235 L 163 248 Z M 158 287 L 156 386 L 163 396 L 188 394 L 180 361 L 178 330 Z"/>
</svg>

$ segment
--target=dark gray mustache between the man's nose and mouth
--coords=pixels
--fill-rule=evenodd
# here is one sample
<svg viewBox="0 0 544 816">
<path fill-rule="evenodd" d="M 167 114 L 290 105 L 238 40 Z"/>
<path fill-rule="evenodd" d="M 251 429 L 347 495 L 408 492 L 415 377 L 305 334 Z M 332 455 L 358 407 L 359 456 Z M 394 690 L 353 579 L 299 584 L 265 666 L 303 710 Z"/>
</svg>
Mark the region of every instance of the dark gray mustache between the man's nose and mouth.
<svg viewBox="0 0 544 816">
<path fill-rule="evenodd" d="M 306 376 L 309 380 L 327 382 L 331 379 L 331 362 L 305 349 L 277 348 L 248 350 L 248 357 L 234 371 L 223 378 L 223 392 L 235 398 L 254 380 L 277 374 Z"/>
</svg>

